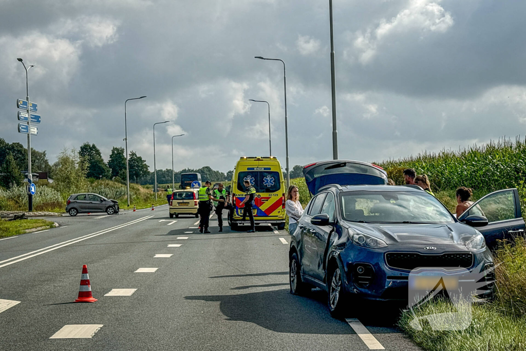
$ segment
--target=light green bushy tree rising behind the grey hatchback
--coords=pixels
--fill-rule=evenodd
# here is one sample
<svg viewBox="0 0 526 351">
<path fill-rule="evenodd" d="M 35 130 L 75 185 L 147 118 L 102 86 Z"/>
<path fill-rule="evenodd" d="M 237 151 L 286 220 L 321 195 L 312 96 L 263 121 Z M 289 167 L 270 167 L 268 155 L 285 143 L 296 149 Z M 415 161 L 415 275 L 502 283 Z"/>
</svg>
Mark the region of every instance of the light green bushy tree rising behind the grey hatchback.
<svg viewBox="0 0 526 351">
<path fill-rule="evenodd" d="M 71 152 L 64 149 L 53 164 L 55 189 L 63 198 L 84 191 L 87 186 L 86 173 L 86 160 L 79 157 L 75 149 Z"/>
</svg>

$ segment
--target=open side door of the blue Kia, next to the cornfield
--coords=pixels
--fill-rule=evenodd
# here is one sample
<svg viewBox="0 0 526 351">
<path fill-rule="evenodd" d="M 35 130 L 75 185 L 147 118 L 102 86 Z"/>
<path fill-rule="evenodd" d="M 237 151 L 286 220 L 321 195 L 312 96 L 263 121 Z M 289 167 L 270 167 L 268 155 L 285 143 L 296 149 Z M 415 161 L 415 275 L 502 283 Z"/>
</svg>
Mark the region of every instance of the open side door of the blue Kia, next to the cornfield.
<svg viewBox="0 0 526 351">
<path fill-rule="evenodd" d="M 526 224 L 522 218 L 519 192 L 517 189 L 498 190 L 488 194 L 471 205 L 458 220 L 463 222 L 470 215 L 488 218 L 488 225 L 478 227 L 490 248 L 497 246 L 497 240 L 524 236 Z"/>
</svg>

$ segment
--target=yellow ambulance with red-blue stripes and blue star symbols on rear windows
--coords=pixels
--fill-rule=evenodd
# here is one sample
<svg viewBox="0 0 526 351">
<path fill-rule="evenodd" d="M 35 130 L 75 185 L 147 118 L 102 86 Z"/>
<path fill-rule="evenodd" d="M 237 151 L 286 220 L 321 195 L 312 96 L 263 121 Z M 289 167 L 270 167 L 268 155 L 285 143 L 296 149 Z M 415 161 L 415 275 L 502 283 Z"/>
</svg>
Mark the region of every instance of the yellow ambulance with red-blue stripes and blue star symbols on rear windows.
<svg viewBox="0 0 526 351">
<path fill-rule="evenodd" d="M 256 188 L 252 207 L 256 225 L 268 223 L 278 229 L 285 228 L 285 183 L 281 165 L 276 157 L 241 157 L 234 168 L 230 184 L 229 202 L 233 209 L 228 212 L 228 224 L 232 230 L 239 225 L 248 225 L 248 216 L 242 220 L 245 186 L 248 180 Z"/>
</svg>

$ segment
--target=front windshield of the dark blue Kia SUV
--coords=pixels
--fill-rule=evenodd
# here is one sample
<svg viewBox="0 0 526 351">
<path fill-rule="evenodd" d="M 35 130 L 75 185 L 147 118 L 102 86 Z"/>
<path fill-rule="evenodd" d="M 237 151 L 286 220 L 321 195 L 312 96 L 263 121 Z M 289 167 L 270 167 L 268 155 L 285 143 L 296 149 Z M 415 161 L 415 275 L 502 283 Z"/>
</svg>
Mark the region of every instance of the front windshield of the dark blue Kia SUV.
<svg viewBox="0 0 526 351">
<path fill-rule="evenodd" d="M 340 206 L 350 222 L 454 223 L 449 211 L 425 192 L 348 192 L 340 195 Z"/>
</svg>

